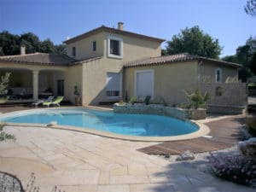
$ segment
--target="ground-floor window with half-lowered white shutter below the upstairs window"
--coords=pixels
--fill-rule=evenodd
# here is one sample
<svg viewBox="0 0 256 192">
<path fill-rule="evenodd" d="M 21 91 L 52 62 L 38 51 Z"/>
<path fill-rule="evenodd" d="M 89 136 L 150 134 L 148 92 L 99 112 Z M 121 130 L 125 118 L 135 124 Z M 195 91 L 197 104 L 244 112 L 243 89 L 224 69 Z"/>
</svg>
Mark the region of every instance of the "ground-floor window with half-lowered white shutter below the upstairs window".
<svg viewBox="0 0 256 192">
<path fill-rule="evenodd" d="M 120 96 L 121 75 L 120 73 L 107 73 L 107 96 Z"/>
</svg>

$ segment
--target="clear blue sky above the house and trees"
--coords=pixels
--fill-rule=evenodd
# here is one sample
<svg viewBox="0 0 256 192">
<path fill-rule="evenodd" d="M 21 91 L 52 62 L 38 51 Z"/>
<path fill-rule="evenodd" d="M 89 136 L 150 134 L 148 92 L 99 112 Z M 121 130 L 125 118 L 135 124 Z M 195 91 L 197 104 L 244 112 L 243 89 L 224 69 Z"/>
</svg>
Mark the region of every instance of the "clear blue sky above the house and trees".
<svg viewBox="0 0 256 192">
<path fill-rule="evenodd" d="M 251 35 L 256 17 L 246 0 L 0 0 L 0 31 L 33 32 L 61 44 L 98 26 L 125 23 L 125 31 L 171 40 L 185 27 L 200 26 L 233 55 Z M 165 44 L 163 44 L 165 47 Z"/>
</svg>

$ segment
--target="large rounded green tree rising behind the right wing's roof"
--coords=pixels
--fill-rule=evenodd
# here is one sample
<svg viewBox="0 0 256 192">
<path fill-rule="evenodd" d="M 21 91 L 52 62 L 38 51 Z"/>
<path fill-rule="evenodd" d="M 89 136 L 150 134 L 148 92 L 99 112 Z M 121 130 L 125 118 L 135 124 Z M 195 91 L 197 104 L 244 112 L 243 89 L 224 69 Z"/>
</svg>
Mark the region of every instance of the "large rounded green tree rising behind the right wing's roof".
<svg viewBox="0 0 256 192">
<path fill-rule="evenodd" d="M 174 35 L 171 41 L 167 41 L 168 54 L 189 53 L 218 59 L 222 48 L 218 39 L 213 39 L 207 33 L 201 31 L 199 26 L 185 28 L 181 33 Z"/>
</svg>

